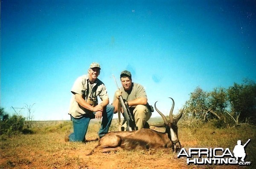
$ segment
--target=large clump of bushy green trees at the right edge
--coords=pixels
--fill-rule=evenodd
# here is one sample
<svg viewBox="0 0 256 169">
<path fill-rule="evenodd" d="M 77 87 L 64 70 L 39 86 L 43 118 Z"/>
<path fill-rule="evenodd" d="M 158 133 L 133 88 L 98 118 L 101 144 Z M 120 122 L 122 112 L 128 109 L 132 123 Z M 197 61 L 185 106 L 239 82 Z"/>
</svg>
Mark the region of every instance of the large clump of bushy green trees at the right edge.
<svg viewBox="0 0 256 169">
<path fill-rule="evenodd" d="M 217 87 L 205 92 L 199 86 L 190 94 L 183 117 L 194 123 L 213 120 L 218 127 L 256 122 L 256 83 L 245 79 L 228 89 Z"/>
</svg>

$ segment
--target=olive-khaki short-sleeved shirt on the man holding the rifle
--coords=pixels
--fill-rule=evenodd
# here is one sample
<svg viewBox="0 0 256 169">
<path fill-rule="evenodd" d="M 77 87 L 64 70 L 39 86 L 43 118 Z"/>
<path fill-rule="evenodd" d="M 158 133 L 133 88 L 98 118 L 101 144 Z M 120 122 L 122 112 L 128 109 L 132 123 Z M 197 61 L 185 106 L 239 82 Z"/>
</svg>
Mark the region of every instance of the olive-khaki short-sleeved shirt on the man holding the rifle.
<svg viewBox="0 0 256 169">
<path fill-rule="evenodd" d="M 126 92 L 123 87 L 121 87 L 120 90 L 122 91 L 123 99 L 125 99 L 126 101 L 135 100 L 141 97 L 144 97 L 147 99 L 147 94 L 145 92 L 144 87 L 138 83 L 132 83 L 131 91 L 129 91 L 131 92 L 130 94 Z M 113 102 L 115 102 L 116 99 L 117 99 L 116 96 L 114 96 Z"/>
</svg>

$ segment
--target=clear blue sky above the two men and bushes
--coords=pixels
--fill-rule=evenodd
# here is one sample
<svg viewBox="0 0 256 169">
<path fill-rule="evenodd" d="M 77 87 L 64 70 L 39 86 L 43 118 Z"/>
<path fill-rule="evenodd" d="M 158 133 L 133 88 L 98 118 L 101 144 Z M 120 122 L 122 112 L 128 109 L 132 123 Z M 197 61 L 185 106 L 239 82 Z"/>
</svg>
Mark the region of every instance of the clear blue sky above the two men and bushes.
<svg viewBox="0 0 256 169">
<path fill-rule="evenodd" d="M 70 89 L 92 62 L 111 103 L 112 74 L 121 86 L 127 69 L 150 104 L 168 115 L 173 97 L 177 112 L 197 86 L 256 81 L 256 1 L 1 0 L 6 112 L 35 103 L 34 120 L 69 119 Z"/>
</svg>

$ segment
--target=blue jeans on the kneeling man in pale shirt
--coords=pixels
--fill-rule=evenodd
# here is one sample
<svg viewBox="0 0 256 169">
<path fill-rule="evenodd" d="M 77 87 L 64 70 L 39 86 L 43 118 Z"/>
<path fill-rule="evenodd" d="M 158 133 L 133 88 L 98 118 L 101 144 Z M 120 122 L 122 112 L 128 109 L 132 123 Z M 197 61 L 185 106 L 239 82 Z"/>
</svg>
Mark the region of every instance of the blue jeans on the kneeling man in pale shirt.
<svg viewBox="0 0 256 169">
<path fill-rule="evenodd" d="M 113 118 L 113 112 L 114 106 L 108 104 L 104 107 L 102 112 L 102 124 L 98 132 L 99 137 L 103 137 L 108 133 L 108 129 Z M 85 114 L 80 118 L 72 117 L 74 132 L 69 136 L 70 141 L 85 141 L 85 135 L 89 126 L 89 122 L 93 118 L 95 118 L 94 114 Z"/>
</svg>

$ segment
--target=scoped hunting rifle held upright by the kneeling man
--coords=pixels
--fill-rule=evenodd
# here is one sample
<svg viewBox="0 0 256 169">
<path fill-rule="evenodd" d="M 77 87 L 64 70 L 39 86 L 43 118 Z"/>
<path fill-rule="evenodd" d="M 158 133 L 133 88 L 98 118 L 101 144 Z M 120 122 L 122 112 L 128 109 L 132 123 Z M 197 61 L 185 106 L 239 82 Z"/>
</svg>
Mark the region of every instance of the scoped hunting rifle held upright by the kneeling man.
<svg viewBox="0 0 256 169">
<path fill-rule="evenodd" d="M 115 78 L 114 75 L 113 75 L 113 78 L 114 78 L 115 83 L 116 83 L 116 78 Z M 116 87 L 117 87 L 117 89 L 119 89 L 117 83 L 116 83 Z M 120 103 L 121 103 L 121 106 L 122 106 L 122 109 L 123 109 L 123 115 L 124 115 L 124 118 L 125 118 L 126 124 L 127 124 L 126 130 L 128 130 L 128 131 L 137 130 L 137 127 L 135 125 L 134 114 L 131 113 L 131 111 L 129 109 L 128 102 L 126 100 L 124 100 L 122 98 L 122 96 L 119 96 L 119 100 L 120 100 Z"/>
</svg>

